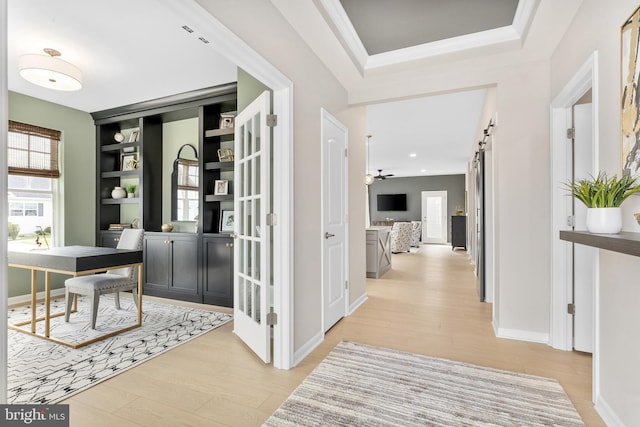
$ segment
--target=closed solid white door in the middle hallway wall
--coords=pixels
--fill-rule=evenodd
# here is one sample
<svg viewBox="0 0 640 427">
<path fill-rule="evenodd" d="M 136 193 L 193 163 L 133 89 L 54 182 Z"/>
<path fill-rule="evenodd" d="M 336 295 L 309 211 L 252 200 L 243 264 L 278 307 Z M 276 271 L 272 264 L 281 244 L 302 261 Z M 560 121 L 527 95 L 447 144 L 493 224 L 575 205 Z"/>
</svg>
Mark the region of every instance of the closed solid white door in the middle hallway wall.
<svg viewBox="0 0 640 427">
<path fill-rule="evenodd" d="M 322 110 L 322 300 L 326 332 L 347 307 L 347 128 Z"/>
</svg>

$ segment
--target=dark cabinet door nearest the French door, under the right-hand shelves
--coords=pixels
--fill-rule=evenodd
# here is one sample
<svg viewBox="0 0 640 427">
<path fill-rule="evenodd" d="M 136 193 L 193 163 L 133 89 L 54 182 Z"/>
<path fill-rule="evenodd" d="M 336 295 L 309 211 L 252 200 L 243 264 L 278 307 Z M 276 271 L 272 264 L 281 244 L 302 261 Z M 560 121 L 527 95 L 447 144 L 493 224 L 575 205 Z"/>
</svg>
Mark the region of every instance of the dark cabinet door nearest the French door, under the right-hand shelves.
<svg viewBox="0 0 640 427">
<path fill-rule="evenodd" d="M 233 307 L 233 240 L 205 238 L 203 302 Z"/>
</svg>

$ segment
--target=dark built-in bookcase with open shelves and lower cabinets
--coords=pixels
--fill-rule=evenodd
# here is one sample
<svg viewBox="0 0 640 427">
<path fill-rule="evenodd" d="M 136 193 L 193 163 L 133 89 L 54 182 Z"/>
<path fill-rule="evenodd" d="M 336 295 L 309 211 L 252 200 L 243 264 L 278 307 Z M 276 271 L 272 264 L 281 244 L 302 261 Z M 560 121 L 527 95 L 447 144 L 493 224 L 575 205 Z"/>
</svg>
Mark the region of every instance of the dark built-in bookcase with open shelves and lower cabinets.
<svg viewBox="0 0 640 427">
<path fill-rule="evenodd" d="M 167 98 L 92 113 L 96 124 L 96 241 L 116 246 L 121 225 L 144 228 L 144 293 L 185 301 L 233 306 L 233 239 L 220 232 L 220 215 L 233 210 L 234 162 L 219 149 L 234 148 L 229 127 L 237 109 L 230 83 Z M 231 117 L 231 119 L 229 118 Z M 194 232 L 161 232 L 163 126 L 198 119 L 198 218 Z M 223 124 L 224 128 L 220 128 Z M 165 135 L 166 137 L 166 135 Z M 130 167 L 131 156 L 137 163 Z M 226 180 L 227 194 L 216 194 Z M 135 184 L 135 197 L 114 199 L 114 187 Z M 111 227 L 111 230 L 110 230 Z"/>
</svg>

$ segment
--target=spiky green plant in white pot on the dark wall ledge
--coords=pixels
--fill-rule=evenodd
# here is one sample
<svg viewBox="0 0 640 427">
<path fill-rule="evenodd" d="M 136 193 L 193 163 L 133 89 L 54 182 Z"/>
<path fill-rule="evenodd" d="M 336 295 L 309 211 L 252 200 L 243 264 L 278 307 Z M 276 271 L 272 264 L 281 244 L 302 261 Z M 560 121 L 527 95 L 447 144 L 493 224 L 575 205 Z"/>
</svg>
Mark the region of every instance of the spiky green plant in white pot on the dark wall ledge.
<svg viewBox="0 0 640 427">
<path fill-rule="evenodd" d="M 565 184 L 571 195 L 587 207 L 587 231 L 590 233 L 616 234 L 622 230 L 620 205 L 627 197 L 640 191 L 636 178 L 623 175 L 607 177 L 604 172 L 589 179 Z"/>
</svg>

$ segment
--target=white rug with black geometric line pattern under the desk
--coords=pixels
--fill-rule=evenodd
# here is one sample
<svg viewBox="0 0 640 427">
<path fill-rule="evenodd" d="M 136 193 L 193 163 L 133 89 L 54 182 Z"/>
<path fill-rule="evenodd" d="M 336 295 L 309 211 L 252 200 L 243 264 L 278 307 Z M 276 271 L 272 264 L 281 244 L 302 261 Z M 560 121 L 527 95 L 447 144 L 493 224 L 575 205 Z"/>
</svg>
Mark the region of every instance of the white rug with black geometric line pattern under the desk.
<svg viewBox="0 0 640 427">
<path fill-rule="evenodd" d="M 100 298 L 96 330 L 88 324 L 89 299 L 79 298 L 78 312 L 71 314 L 69 323 L 64 316 L 51 319 L 51 336 L 79 342 L 135 324 L 137 309 L 131 296 L 125 295 L 120 297 L 122 310 L 116 310 L 112 296 Z M 44 313 L 44 304 L 37 308 Z M 142 309 L 140 328 L 75 350 L 9 329 L 7 403 L 59 402 L 232 319 L 230 314 L 151 301 L 144 301 Z M 51 304 L 51 313 L 59 311 L 64 311 L 64 299 Z M 8 321 L 30 316 L 30 307 L 10 309 Z"/>
</svg>

